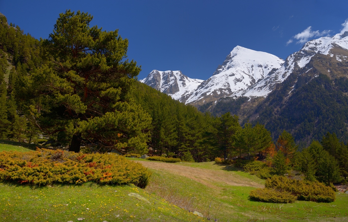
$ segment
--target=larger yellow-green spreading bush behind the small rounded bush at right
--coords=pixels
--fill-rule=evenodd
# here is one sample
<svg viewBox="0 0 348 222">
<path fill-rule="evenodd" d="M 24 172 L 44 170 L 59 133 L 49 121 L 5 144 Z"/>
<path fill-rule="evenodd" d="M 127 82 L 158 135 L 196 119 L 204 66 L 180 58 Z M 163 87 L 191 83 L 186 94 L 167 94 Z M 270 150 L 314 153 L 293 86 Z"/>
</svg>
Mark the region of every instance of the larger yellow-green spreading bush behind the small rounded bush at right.
<svg viewBox="0 0 348 222">
<path fill-rule="evenodd" d="M 265 187 L 290 192 L 297 196 L 298 200 L 330 203 L 336 199 L 333 189 L 323 183 L 294 180 L 285 176 L 272 176 L 266 180 Z"/>
</svg>

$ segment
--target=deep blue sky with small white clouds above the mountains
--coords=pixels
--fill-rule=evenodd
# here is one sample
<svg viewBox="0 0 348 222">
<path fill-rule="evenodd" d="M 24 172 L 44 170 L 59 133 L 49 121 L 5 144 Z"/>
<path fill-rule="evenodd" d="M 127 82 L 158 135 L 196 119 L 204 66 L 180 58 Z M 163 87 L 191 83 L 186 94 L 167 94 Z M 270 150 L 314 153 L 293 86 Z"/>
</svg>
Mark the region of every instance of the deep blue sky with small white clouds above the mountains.
<svg viewBox="0 0 348 222">
<path fill-rule="evenodd" d="M 48 38 L 66 9 L 119 29 L 128 58 L 142 66 L 139 79 L 157 69 L 205 80 L 237 45 L 285 59 L 307 40 L 348 30 L 347 0 L 0 0 L 8 22 L 35 38 Z"/>
</svg>

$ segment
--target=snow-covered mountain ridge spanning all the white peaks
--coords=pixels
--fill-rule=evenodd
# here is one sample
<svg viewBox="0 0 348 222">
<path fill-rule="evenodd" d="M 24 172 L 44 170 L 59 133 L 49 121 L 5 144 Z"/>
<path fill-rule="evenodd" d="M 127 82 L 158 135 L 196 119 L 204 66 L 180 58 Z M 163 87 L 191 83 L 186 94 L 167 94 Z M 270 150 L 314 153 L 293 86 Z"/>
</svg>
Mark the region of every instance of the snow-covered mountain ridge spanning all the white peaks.
<svg viewBox="0 0 348 222">
<path fill-rule="evenodd" d="M 223 97 L 266 97 L 275 85 L 283 82 L 292 72 L 303 68 L 314 55 L 321 53 L 334 56 L 332 48 L 348 49 L 348 32 L 332 37 L 321 37 L 306 42 L 301 50 L 289 55 L 286 60 L 252 49 L 236 46 L 221 65 L 218 65 L 213 75 L 207 80 L 199 80 L 184 90 L 179 90 L 182 82 L 166 82 L 165 87 L 154 87 L 149 79 L 158 77 L 152 71 L 141 82 L 152 86 L 161 92 L 171 95 L 174 99 L 185 104 L 201 106 L 205 103 L 216 102 Z M 338 60 L 346 57 L 335 55 Z M 180 71 L 157 71 L 162 73 Z M 179 76 L 182 73 L 180 72 Z M 158 76 L 158 74 L 157 74 Z M 182 74 L 185 78 L 189 77 Z M 162 77 L 161 77 L 162 79 Z M 159 81 L 159 80 L 157 80 Z M 198 84 L 199 83 L 199 84 Z M 158 83 L 157 83 L 158 84 Z M 194 88 L 194 87 L 197 88 Z M 175 88 L 176 91 L 169 90 Z M 178 93 L 180 91 L 180 93 Z"/>
</svg>

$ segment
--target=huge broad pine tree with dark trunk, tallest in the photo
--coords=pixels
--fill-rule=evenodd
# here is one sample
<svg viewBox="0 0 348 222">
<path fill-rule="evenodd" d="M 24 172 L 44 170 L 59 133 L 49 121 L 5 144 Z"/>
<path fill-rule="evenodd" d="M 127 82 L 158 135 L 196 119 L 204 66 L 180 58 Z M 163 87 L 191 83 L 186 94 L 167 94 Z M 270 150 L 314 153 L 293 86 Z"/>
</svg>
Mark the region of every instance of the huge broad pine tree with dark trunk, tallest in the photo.
<svg viewBox="0 0 348 222">
<path fill-rule="evenodd" d="M 129 97 L 140 67 L 126 60 L 118 30 L 90 27 L 92 16 L 60 14 L 43 47 L 49 62 L 31 74 L 31 121 L 79 152 L 81 141 L 147 153 L 150 116 Z"/>
</svg>

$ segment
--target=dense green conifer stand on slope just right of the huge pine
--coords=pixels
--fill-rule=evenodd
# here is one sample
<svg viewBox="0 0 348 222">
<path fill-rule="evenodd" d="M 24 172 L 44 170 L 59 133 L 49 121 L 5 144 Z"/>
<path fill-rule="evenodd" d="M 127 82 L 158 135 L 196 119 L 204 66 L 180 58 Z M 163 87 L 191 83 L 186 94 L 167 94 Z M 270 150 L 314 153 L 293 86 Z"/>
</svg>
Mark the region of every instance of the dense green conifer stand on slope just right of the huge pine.
<svg viewBox="0 0 348 222">
<path fill-rule="evenodd" d="M 132 94 L 152 118 L 148 146 L 154 155 L 190 152 L 197 162 L 213 159 L 212 117 L 138 82 Z"/>
</svg>

